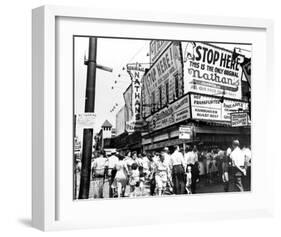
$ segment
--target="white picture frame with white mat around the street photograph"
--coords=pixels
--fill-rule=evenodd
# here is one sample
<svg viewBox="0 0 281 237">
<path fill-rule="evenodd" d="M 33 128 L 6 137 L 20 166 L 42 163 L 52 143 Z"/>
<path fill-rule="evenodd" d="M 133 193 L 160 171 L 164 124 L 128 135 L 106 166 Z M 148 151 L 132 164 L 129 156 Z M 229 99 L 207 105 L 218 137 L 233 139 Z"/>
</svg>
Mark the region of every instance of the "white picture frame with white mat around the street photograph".
<svg viewBox="0 0 281 237">
<path fill-rule="evenodd" d="M 156 14 L 157 13 L 157 14 Z M 114 24 L 121 22 L 126 28 L 126 24 L 130 26 L 137 25 L 152 25 L 152 27 L 191 27 L 194 31 L 233 29 L 235 32 L 243 34 L 259 35 L 256 44 L 254 43 L 253 54 L 253 78 L 256 77 L 256 85 L 253 85 L 253 154 L 256 155 L 256 165 L 253 166 L 254 187 L 253 191 L 248 194 L 228 194 L 228 199 L 235 205 L 217 206 L 206 208 L 205 200 L 212 198 L 213 203 L 226 203 L 227 199 L 223 194 L 195 195 L 186 200 L 185 197 L 171 198 L 145 198 L 143 200 L 118 200 L 118 206 L 125 207 L 124 213 L 121 213 L 120 220 L 110 218 L 106 214 L 101 214 L 99 218 L 85 213 L 87 208 L 101 213 L 101 210 L 107 212 L 109 209 L 116 207 L 116 201 L 92 201 L 92 202 L 73 202 L 72 197 L 69 200 L 64 199 L 63 191 L 60 190 L 60 183 L 64 182 L 64 178 L 60 174 L 63 160 L 58 161 L 61 150 L 68 149 L 67 144 L 58 145 L 58 120 L 60 114 L 64 116 L 63 111 L 58 111 L 58 99 L 63 100 L 61 90 L 58 87 L 57 77 L 59 76 L 57 61 L 59 50 L 56 45 L 56 40 L 59 30 L 64 25 L 59 25 L 60 19 L 72 19 L 88 23 L 97 21 L 95 24 Z M 72 23 L 66 23 L 72 24 Z M 91 23 L 89 23 L 91 24 Z M 74 26 L 73 28 L 76 28 Z M 100 26 L 102 27 L 102 26 Z M 273 58 L 273 22 L 262 19 L 244 19 L 230 17 L 208 17 L 208 16 L 189 16 L 189 15 L 174 15 L 173 13 L 161 12 L 138 12 L 138 11 L 114 11 L 109 9 L 90 9 L 76 7 L 61 7 L 61 6 L 43 6 L 33 10 L 32 12 L 32 225 L 41 230 L 60 230 L 71 228 L 89 228 L 89 227 L 106 227 L 106 226 L 121 226 L 121 225 L 142 225 L 165 223 L 166 215 L 172 215 L 171 222 L 200 220 L 208 218 L 242 218 L 254 216 L 270 216 L 273 215 L 273 184 L 271 178 L 273 173 L 268 169 L 272 164 L 273 157 L 269 154 L 269 133 L 263 129 L 264 123 L 267 129 L 270 127 L 266 113 L 270 113 L 272 105 L 270 99 L 273 98 L 271 83 L 274 78 L 272 74 L 272 58 Z M 67 28 L 67 27 L 66 27 Z M 69 28 L 69 26 L 68 26 Z M 127 33 L 122 33 L 126 36 L 130 32 L 129 26 Z M 159 28 L 160 29 L 160 28 Z M 73 30 L 73 29 L 72 29 Z M 105 29 L 106 30 L 106 29 Z M 68 31 L 68 29 L 66 29 Z M 163 32 L 154 32 L 153 29 L 147 33 L 151 38 L 167 38 Z M 241 33 L 242 32 L 242 33 Z M 251 33 L 252 32 L 252 33 Z M 253 33 L 254 32 L 254 33 Z M 69 33 L 71 35 L 71 32 Z M 112 33 L 114 34 L 114 32 Z M 116 33 L 115 33 L 116 34 Z M 132 35 L 135 33 L 131 33 Z M 131 35 L 130 34 L 130 35 Z M 136 33 L 137 34 L 137 33 Z M 199 33 L 198 33 L 199 34 Z M 238 34 L 238 33 L 237 33 Z M 137 36 L 136 36 L 137 37 Z M 179 36 L 177 36 L 179 37 Z M 213 39 L 218 39 L 219 36 L 212 36 Z M 227 37 L 227 36 L 224 36 Z M 249 38 L 251 38 L 249 36 Z M 193 38 L 192 38 L 193 39 Z M 197 38 L 196 38 L 197 39 Z M 197 39 L 198 40 L 198 39 Z M 208 40 L 212 40 L 208 38 Z M 238 40 L 238 39 L 234 39 Z M 263 46 L 255 48 L 256 46 Z M 257 53 L 255 53 L 255 50 Z M 263 55 L 264 58 L 255 58 L 255 55 Z M 72 68 L 69 68 L 72 71 Z M 259 73 L 258 73 L 259 72 Z M 265 77 L 266 74 L 266 77 Z M 65 82 L 64 82 L 65 83 Z M 255 82 L 253 83 L 255 84 Z M 61 84 L 60 84 L 61 86 Z M 72 91 L 72 81 L 69 81 L 69 86 L 66 90 Z M 259 92 L 263 91 L 263 101 L 258 98 Z M 67 95 L 68 96 L 68 95 Z M 69 103 L 72 103 L 69 102 Z M 261 107 L 264 105 L 264 110 Z M 265 106 L 266 105 L 266 106 Z M 263 129 L 263 130 L 262 130 Z M 62 131 L 63 132 L 63 131 Z M 259 136 L 257 136 L 259 135 Z M 263 137 L 263 140 L 261 140 Z M 69 137 L 72 139 L 72 136 Z M 263 146 L 260 145 L 263 143 Z M 70 147 L 70 149 L 72 149 Z M 263 159 L 266 157 L 266 159 Z M 69 157 L 69 159 L 71 159 Z M 72 171 L 70 171 L 72 172 Z M 262 173 L 262 176 L 259 175 Z M 262 177 L 262 178 L 260 178 Z M 59 183 L 59 184 L 58 184 Z M 67 185 L 66 185 L 67 186 Z M 263 189 L 266 192 L 263 192 Z M 176 199 L 176 201 L 175 201 Z M 73 202 L 72 204 L 64 205 L 65 203 Z M 176 202 L 176 204 L 174 204 Z M 196 203 L 200 205 L 197 208 Z M 190 207 L 187 207 L 190 203 Z M 126 207 L 128 205 L 128 207 Z M 136 206 L 137 205 L 137 206 Z M 145 205 L 153 206 L 157 213 L 141 213 L 136 215 L 129 210 L 132 206 L 136 206 L 137 210 L 141 210 Z M 161 210 L 159 205 L 167 205 L 167 210 Z M 108 209 L 105 209 L 108 208 Z M 127 208 L 127 209 L 126 209 Z M 159 210 L 158 210 L 159 208 Z M 84 212 L 79 212 L 84 210 Z M 159 211 L 159 212 L 158 212 Z M 90 211 L 91 212 L 91 211 Z M 80 213 L 80 215 L 78 214 Z M 81 215 L 85 213 L 85 215 Z M 68 218 L 65 218 L 65 216 Z M 105 221 L 106 220 L 106 221 Z"/>
</svg>

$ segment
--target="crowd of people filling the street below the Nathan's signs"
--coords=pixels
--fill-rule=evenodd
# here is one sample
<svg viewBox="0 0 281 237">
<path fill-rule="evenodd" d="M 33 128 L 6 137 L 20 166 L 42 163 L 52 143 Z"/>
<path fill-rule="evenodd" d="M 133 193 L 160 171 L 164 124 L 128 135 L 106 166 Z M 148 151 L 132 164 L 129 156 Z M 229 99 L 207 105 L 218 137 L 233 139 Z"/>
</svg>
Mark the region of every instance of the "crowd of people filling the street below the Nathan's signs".
<svg viewBox="0 0 281 237">
<path fill-rule="evenodd" d="M 199 181 L 206 185 L 221 184 L 228 192 L 231 178 L 233 191 L 244 191 L 245 180 L 250 183 L 251 150 L 246 146 L 241 149 L 239 141 L 234 140 L 226 150 L 215 147 L 199 151 L 196 145 L 186 145 L 185 149 L 174 146 L 146 153 L 106 155 L 97 151 L 91 173 L 94 198 L 103 198 L 105 182 L 110 198 L 194 194 Z"/>
</svg>

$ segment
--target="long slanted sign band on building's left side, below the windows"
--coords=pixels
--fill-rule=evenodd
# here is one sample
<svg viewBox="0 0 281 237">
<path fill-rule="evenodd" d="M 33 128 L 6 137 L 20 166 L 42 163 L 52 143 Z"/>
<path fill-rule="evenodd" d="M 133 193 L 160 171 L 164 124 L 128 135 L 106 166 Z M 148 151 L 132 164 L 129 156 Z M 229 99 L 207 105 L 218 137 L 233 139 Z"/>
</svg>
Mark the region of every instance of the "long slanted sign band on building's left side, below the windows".
<svg viewBox="0 0 281 237">
<path fill-rule="evenodd" d="M 185 95 L 176 102 L 170 104 L 168 108 L 160 110 L 158 113 L 147 118 L 149 130 L 155 131 L 167 126 L 176 124 L 190 118 L 189 95 Z"/>
</svg>

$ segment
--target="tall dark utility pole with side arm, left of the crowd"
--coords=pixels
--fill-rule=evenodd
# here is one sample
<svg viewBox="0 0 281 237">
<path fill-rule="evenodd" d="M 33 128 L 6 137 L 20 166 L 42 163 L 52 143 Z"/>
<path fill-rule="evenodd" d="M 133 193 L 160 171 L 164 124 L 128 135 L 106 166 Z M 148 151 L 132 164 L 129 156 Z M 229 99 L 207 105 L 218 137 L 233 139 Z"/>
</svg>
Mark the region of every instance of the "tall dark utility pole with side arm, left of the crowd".
<svg viewBox="0 0 281 237">
<path fill-rule="evenodd" d="M 96 88 L 96 69 L 112 72 L 112 68 L 98 65 L 97 58 L 97 38 L 89 38 L 89 53 L 88 60 L 85 60 L 87 65 L 87 82 L 86 82 L 86 97 L 85 97 L 85 113 L 95 112 L 95 88 Z M 79 189 L 79 199 L 88 199 L 91 180 L 91 160 L 93 149 L 93 128 L 83 129 L 83 148 L 82 148 L 82 167 Z"/>
</svg>

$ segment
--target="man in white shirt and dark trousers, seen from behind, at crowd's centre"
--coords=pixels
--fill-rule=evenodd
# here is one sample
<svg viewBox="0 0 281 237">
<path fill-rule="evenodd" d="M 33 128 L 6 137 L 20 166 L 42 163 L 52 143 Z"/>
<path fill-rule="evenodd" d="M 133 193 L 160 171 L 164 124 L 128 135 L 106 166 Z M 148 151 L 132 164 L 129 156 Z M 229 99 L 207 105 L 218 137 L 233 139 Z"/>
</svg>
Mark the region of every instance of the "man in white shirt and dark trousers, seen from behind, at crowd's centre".
<svg viewBox="0 0 281 237">
<path fill-rule="evenodd" d="M 175 194 L 184 194 L 185 192 L 184 165 L 183 154 L 180 152 L 179 146 L 175 146 L 175 151 L 171 155 L 172 180 Z"/>
</svg>

